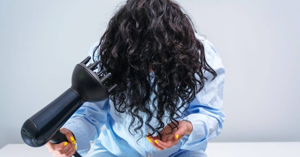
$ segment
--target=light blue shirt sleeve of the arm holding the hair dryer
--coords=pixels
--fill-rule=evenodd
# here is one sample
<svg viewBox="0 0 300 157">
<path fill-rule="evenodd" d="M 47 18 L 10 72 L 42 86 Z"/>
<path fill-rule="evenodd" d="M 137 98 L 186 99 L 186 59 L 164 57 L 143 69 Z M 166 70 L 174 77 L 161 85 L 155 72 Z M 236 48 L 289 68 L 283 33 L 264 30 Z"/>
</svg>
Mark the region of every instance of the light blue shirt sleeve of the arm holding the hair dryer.
<svg viewBox="0 0 300 157">
<path fill-rule="evenodd" d="M 92 59 L 87 65 L 93 63 L 93 58 L 95 58 L 93 50 L 96 45 L 98 44 L 95 43 L 89 49 L 88 55 Z M 101 127 L 107 121 L 108 103 L 108 100 L 97 103 L 85 102 L 62 126 L 73 133 L 79 154 L 85 155 L 91 147 L 90 142 L 98 138 Z"/>
</svg>

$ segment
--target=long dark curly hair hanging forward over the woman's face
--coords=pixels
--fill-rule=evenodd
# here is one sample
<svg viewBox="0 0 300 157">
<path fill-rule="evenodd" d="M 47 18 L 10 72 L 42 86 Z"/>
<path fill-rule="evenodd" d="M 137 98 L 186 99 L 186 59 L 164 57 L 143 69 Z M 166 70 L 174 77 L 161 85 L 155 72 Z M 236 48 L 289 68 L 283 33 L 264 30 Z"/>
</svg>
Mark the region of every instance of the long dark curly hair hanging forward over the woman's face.
<svg viewBox="0 0 300 157">
<path fill-rule="evenodd" d="M 173 132 L 176 119 L 203 88 L 204 72 L 217 76 L 195 32 L 190 18 L 172 0 L 128 0 L 110 19 L 94 56 L 100 61 L 100 76 L 112 73 L 107 84 L 117 84 L 117 90 L 110 99 L 117 112 L 132 117 L 131 135 L 140 132 L 143 137 L 143 118 L 151 135 L 161 139 L 166 118 Z M 153 117 L 155 126 L 150 125 Z"/>
</svg>

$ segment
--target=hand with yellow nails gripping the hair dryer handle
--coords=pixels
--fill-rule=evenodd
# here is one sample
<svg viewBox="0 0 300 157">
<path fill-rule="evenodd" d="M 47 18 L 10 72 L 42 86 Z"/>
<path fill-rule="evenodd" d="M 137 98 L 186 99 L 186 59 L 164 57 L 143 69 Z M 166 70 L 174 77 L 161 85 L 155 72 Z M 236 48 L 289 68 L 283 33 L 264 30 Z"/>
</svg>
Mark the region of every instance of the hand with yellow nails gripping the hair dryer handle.
<svg viewBox="0 0 300 157">
<path fill-rule="evenodd" d="M 59 144 L 53 144 L 49 141 L 46 143 L 46 147 L 55 157 L 72 156 L 76 152 L 76 140 L 74 139 L 74 135 L 66 128 L 61 128 L 60 131 L 67 137 L 68 141 Z"/>
</svg>

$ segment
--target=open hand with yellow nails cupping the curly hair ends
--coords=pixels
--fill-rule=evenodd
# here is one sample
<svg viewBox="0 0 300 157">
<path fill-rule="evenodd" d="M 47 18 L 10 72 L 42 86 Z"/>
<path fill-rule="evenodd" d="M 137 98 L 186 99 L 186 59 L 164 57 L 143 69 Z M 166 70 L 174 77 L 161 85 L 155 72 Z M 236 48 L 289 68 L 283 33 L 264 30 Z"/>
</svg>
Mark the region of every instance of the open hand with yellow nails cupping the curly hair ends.
<svg viewBox="0 0 300 157">
<path fill-rule="evenodd" d="M 158 136 L 152 137 L 147 136 L 146 138 L 148 141 L 158 150 L 168 149 L 174 145 L 176 145 L 179 140 L 184 137 L 185 134 L 190 135 L 193 130 L 193 125 L 189 121 L 181 120 L 178 121 L 178 129 L 174 129 L 173 134 L 168 134 L 172 131 L 171 127 L 167 125 L 162 131 L 161 131 L 161 140 L 159 140 Z M 170 123 L 170 125 L 173 125 Z M 149 134 L 148 134 L 149 135 Z"/>
</svg>

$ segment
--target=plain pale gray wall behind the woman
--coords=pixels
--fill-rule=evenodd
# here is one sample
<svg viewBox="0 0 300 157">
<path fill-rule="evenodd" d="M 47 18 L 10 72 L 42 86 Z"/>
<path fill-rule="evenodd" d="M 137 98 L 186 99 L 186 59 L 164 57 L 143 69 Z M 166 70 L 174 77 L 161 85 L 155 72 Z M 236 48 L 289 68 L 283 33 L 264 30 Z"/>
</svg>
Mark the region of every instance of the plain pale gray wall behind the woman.
<svg viewBox="0 0 300 157">
<path fill-rule="evenodd" d="M 70 87 L 120 2 L 0 0 L 0 148 L 22 143 L 23 122 Z M 226 120 L 213 141 L 300 141 L 300 3 L 179 2 L 226 70 Z"/>
</svg>

